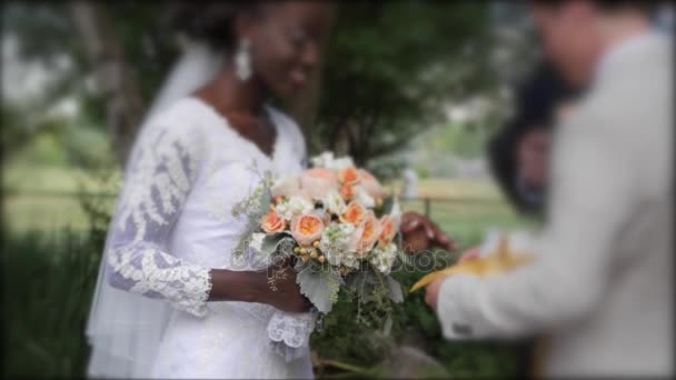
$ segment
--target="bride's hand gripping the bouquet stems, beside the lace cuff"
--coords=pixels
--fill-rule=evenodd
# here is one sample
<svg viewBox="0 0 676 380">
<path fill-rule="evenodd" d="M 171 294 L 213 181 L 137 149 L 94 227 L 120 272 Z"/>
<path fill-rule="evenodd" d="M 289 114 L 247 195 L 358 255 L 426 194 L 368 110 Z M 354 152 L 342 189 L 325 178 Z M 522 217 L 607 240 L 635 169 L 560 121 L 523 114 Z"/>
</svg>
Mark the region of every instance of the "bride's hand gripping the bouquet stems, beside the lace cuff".
<svg viewBox="0 0 676 380">
<path fill-rule="evenodd" d="M 272 266 L 265 272 L 267 279 L 272 281 L 266 281 L 267 291 L 264 292 L 262 301 L 282 311 L 306 312 L 312 303 L 300 293 L 291 259 Z"/>
</svg>

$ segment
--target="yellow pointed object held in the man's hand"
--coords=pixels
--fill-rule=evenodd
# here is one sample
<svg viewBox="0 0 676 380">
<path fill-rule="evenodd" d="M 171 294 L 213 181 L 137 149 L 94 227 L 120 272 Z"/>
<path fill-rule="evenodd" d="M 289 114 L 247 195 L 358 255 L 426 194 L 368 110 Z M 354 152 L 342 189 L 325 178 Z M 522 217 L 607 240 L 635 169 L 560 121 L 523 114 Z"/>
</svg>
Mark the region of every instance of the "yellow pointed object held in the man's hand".
<svg viewBox="0 0 676 380">
<path fill-rule="evenodd" d="M 478 277 L 486 277 L 490 274 L 497 274 L 506 272 L 508 270 L 521 267 L 533 261 L 533 256 L 529 253 L 513 253 L 509 251 L 509 242 L 506 237 L 500 237 L 497 252 L 483 258 L 476 258 L 465 262 L 460 262 L 455 266 L 450 266 L 446 269 L 431 272 L 418 282 L 416 282 L 410 292 L 414 292 L 420 288 L 427 287 L 435 280 L 456 276 L 456 274 L 474 274 Z"/>
</svg>

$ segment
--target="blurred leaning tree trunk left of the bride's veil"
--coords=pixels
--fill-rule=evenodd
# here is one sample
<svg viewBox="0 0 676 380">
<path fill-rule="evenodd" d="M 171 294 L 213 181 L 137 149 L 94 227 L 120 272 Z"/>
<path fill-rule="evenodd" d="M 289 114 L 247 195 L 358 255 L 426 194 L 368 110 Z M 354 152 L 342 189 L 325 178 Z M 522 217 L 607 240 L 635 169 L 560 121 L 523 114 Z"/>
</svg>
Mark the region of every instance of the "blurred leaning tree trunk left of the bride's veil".
<svg viewBox="0 0 676 380">
<path fill-rule="evenodd" d="M 106 97 L 108 131 L 118 160 L 125 164 L 146 107 L 125 69 L 123 49 L 105 8 L 105 2 L 80 0 L 71 2 L 70 12 L 84 41 L 97 90 Z"/>
</svg>

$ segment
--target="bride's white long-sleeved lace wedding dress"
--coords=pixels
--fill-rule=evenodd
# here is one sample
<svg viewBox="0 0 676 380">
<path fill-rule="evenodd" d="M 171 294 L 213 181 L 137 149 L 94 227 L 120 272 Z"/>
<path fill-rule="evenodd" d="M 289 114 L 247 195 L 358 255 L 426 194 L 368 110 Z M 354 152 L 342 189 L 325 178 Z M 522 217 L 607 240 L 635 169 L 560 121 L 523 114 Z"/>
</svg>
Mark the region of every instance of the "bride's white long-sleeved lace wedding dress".
<svg viewBox="0 0 676 380">
<path fill-rule="evenodd" d="M 304 167 L 300 130 L 267 110 L 277 129 L 271 157 L 195 97 L 158 113 L 139 137 L 110 227 L 107 277 L 115 288 L 159 299 L 173 311 L 151 362 L 141 363 L 148 370 L 123 376 L 312 377 L 307 344 L 291 361 L 271 349 L 271 341 L 307 339 L 308 324 L 267 304 L 207 302 L 211 268 L 252 268 L 231 254 L 246 218 L 231 216 L 233 203 L 250 194 L 264 171 L 280 176 Z M 98 360 L 96 347 L 91 360 Z"/>
</svg>

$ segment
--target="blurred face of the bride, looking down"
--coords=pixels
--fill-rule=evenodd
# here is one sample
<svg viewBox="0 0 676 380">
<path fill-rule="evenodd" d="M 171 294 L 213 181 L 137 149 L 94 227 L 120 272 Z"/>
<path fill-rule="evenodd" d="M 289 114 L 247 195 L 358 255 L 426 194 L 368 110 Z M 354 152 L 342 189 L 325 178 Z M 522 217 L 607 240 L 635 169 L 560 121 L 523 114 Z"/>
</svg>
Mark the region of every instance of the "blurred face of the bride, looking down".
<svg viewBox="0 0 676 380">
<path fill-rule="evenodd" d="M 238 33 L 250 41 L 254 73 L 280 98 L 302 90 L 317 70 L 330 29 L 332 6 L 324 1 L 270 4 Z"/>
</svg>

